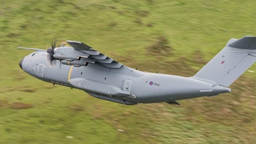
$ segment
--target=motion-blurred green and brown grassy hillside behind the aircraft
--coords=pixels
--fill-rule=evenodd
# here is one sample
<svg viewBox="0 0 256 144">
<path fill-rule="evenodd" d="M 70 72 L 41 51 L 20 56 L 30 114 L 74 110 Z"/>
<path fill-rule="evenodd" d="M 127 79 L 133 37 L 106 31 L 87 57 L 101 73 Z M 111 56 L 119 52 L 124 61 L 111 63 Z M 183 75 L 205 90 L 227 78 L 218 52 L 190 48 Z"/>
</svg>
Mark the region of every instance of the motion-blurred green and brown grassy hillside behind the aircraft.
<svg viewBox="0 0 256 144">
<path fill-rule="evenodd" d="M 31 51 L 16 48 L 77 40 L 138 70 L 193 76 L 230 38 L 256 36 L 254 0 L 0 3 L 0 144 L 256 143 L 254 72 L 229 94 L 125 106 L 29 76 L 18 62 Z"/>
</svg>

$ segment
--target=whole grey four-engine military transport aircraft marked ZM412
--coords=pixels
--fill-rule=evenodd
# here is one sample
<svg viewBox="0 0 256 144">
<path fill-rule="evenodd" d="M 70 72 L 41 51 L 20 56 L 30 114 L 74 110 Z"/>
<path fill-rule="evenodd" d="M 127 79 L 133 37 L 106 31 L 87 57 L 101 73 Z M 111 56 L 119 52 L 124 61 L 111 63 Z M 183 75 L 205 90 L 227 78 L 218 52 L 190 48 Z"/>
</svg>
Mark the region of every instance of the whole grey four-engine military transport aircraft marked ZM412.
<svg viewBox="0 0 256 144">
<path fill-rule="evenodd" d="M 215 96 L 256 62 L 256 37 L 231 39 L 192 77 L 141 72 L 120 64 L 90 46 L 68 40 L 47 50 L 34 50 L 20 60 L 28 74 L 53 84 L 84 90 L 96 98 L 133 105 Z M 18 47 L 22 48 L 22 47 Z"/>
</svg>

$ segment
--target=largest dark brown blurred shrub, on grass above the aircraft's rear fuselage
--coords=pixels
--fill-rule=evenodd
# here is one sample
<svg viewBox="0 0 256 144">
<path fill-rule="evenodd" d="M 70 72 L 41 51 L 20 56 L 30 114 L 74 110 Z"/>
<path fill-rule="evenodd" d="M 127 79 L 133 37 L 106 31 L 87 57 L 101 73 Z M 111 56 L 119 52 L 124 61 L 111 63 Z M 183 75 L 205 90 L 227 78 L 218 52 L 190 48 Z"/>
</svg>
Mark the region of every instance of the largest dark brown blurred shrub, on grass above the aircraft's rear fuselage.
<svg viewBox="0 0 256 144">
<path fill-rule="evenodd" d="M 165 36 L 158 36 L 154 43 L 146 49 L 150 54 L 166 55 L 170 54 L 171 46 L 169 46 L 169 41 Z"/>
</svg>

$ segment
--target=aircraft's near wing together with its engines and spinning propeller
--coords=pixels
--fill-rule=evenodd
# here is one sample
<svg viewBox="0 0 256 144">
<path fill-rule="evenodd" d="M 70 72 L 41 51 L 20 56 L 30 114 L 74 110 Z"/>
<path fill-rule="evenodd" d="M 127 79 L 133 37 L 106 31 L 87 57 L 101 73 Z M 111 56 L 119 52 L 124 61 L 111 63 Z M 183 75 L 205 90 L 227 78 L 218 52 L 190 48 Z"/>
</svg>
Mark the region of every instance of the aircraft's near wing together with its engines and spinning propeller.
<svg viewBox="0 0 256 144">
<path fill-rule="evenodd" d="M 56 60 L 60 60 L 62 64 L 72 65 L 72 66 L 87 66 L 88 63 L 94 64 L 97 62 L 102 66 L 107 68 L 120 68 L 122 64 L 114 61 L 108 56 L 97 52 L 90 46 L 82 42 L 67 40 L 70 46 L 60 45 L 56 48 L 56 42 L 52 42 L 52 47 L 48 48 L 46 52 L 48 55 L 48 60 L 50 64 L 55 64 Z"/>
</svg>

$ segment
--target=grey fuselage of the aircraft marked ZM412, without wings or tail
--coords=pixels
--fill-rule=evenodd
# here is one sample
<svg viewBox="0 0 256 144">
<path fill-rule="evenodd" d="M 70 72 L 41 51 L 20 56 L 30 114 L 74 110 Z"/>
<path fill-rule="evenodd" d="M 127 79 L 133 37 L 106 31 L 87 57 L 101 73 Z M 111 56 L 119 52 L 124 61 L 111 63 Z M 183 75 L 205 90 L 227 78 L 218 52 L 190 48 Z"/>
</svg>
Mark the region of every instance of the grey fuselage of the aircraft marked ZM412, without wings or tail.
<svg viewBox="0 0 256 144">
<path fill-rule="evenodd" d="M 88 94 L 122 104 L 156 103 L 213 96 L 230 92 L 214 82 L 141 72 L 126 66 L 107 68 L 100 64 L 70 66 L 49 62 L 46 51 L 32 52 L 20 61 L 22 70 L 54 84 L 84 90 Z"/>
</svg>

